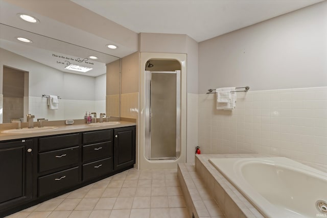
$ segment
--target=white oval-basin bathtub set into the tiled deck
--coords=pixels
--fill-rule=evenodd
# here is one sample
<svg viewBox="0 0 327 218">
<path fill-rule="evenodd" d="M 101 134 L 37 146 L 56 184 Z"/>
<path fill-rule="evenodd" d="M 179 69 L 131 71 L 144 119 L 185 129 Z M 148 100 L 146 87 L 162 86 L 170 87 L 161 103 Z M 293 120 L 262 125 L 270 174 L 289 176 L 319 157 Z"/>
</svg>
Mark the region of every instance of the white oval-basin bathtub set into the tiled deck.
<svg viewBox="0 0 327 218">
<path fill-rule="evenodd" d="M 285 157 L 209 161 L 266 217 L 327 217 L 326 173 Z"/>
</svg>

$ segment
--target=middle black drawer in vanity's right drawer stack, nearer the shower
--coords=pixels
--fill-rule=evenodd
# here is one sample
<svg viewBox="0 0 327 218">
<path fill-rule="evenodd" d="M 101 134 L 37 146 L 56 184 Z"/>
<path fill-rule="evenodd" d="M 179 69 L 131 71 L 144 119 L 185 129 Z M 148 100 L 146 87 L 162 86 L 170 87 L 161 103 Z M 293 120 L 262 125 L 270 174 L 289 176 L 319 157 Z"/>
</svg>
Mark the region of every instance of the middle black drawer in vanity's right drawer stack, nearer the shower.
<svg viewBox="0 0 327 218">
<path fill-rule="evenodd" d="M 83 146 L 83 162 L 112 157 L 112 141 Z"/>
</svg>

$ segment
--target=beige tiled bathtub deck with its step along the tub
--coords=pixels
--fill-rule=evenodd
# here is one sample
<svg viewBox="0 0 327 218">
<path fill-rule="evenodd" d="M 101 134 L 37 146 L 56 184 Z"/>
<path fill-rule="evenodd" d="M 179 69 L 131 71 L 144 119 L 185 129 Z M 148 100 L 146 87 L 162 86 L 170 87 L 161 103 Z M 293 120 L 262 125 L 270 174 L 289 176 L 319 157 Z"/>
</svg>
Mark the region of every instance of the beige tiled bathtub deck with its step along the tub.
<svg viewBox="0 0 327 218">
<path fill-rule="evenodd" d="M 264 216 L 231 184 L 219 171 L 208 161 L 209 158 L 235 158 L 235 157 L 267 157 L 259 154 L 216 154 L 216 155 L 196 155 L 195 166 L 189 164 L 178 165 L 178 178 L 184 192 L 186 204 L 189 212 L 194 212 L 195 218 L 208 217 L 250 217 L 263 218 Z M 191 178 L 191 179 L 190 179 Z M 194 181 L 195 182 L 194 182 Z M 199 182 L 201 181 L 201 182 Z M 184 184 L 183 184 L 184 183 Z M 196 197 L 194 186 L 201 184 L 205 188 L 214 202 L 217 202 L 220 215 L 211 215 L 207 210 L 202 197 Z M 198 191 L 200 193 L 200 191 Z M 193 197 L 193 200 L 191 198 Z M 194 204 L 194 202 L 196 204 Z M 198 199 L 197 199 L 198 198 Z M 202 203 L 197 202 L 201 200 Z M 191 202 L 190 202 L 191 201 Z M 202 206 L 197 205 L 199 203 Z M 190 206 L 191 205 L 191 206 Z M 195 207 L 197 206 L 197 207 Z M 204 206 L 204 207 L 203 207 Z M 198 210 L 199 208 L 199 210 Z M 206 209 L 206 210 L 205 210 Z"/>
</svg>

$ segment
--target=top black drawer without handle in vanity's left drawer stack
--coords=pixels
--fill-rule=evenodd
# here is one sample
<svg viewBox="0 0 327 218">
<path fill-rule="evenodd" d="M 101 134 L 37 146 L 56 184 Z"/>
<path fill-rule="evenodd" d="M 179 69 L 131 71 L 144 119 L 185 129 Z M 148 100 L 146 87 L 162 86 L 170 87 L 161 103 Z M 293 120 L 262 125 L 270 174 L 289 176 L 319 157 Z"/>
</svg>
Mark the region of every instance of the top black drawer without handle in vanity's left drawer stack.
<svg viewBox="0 0 327 218">
<path fill-rule="evenodd" d="M 78 133 L 39 138 L 39 152 L 73 147 L 77 146 L 78 144 Z"/>
</svg>

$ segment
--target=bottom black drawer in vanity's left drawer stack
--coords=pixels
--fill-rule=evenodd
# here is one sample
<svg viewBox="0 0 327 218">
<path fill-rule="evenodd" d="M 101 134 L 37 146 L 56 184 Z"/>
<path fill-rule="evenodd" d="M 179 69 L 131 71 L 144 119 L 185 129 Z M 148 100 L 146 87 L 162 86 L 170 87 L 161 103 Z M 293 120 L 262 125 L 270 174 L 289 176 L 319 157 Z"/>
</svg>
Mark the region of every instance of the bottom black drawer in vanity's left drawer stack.
<svg viewBox="0 0 327 218">
<path fill-rule="evenodd" d="M 79 183 L 78 167 L 38 178 L 39 196 L 48 195 Z"/>
</svg>

